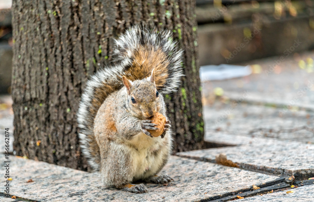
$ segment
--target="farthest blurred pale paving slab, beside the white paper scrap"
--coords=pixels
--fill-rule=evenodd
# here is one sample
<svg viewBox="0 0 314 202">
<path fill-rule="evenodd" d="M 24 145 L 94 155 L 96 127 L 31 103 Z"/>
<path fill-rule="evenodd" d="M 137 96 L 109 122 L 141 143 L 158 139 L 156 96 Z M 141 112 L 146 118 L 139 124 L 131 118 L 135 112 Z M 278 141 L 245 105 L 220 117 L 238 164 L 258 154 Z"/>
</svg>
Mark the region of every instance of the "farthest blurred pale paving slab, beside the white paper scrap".
<svg viewBox="0 0 314 202">
<path fill-rule="evenodd" d="M 289 48 L 289 47 L 287 47 Z M 284 50 L 283 50 L 284 52 Z M 283 57 L 280 61 L 280 57 Z M 305 107 L 314 111 L 314 52 L 293 53 L 252 60 L 240 65 L 253 65 L 253 72 L 246 77 L 208 81 L 203 83 L 203 95 L 213 94 L 216 87 L 232 99 L 278 105 L 285 109 Z"/>
</svg>

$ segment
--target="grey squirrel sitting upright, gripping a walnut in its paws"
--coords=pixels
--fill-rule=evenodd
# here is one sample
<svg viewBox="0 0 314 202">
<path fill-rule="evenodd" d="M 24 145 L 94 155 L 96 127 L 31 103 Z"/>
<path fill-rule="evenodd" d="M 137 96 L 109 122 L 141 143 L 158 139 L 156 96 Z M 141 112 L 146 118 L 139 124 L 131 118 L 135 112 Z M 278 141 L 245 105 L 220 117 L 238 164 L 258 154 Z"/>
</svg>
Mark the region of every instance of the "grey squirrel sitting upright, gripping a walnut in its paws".
<svg viewBox="0 0 314 202">
<path fill-rule="evenodd" d="M 180 85 L 183 50 L 176 45 L 170 31 L 135 26 L 115 39 L 116 63 L 98 70 L 86 83 L 78 136 L 82 153 L 106 186 L 143 193 L 144 184 L 131 183 L 173 180 L 156 175 L 172 151 L 170 121 L 161 137 L 152 137 L 147 130 L 159 128 L 147 119 L 157 112 L 166 117 L 162 94 Z"/>
</svg>

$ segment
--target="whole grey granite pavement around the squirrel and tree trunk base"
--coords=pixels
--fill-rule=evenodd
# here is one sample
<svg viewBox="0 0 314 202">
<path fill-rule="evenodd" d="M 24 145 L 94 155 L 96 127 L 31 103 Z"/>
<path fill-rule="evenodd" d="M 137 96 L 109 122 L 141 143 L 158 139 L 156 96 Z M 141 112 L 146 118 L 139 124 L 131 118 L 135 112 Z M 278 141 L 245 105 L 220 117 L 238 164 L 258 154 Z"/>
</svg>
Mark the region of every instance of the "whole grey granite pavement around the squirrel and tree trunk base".
<svg viewBox="0 0 314 202">
<path fill-rule="evenodd" d="M 204 82 L 209 148 L 171 156 L 160 172 L 174 179 L 169 184 L 144 183 L 149 192 L 133 194 L 104 187 L 97 173 L 11 155 L 10 196 L 16 199 L 4 197 L 2 188 L 0 201 L 314 201 L 309 179 L 314 177 L 314 89 L 304 89 L 314 78 L 309 58 L 314 53 L 291 54 L 270 74 L 265 70 L 276 57 L 251 61 L 247 64 L 255 64 L 257 74 Z M 222 96 L 214 93 L 217 87 Z M 0 96 L 0 128 L 9 127 L 10 133 L 11 104 Z M 2 161 L 1 175 L 3 166 Z"/>
</svg>

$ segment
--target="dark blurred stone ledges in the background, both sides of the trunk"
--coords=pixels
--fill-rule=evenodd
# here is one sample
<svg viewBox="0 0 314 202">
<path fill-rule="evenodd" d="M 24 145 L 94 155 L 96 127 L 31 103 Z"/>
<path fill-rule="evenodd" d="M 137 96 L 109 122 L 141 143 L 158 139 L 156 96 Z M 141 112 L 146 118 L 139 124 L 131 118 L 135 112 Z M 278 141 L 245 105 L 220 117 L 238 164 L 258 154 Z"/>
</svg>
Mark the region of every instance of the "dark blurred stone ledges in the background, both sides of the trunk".
<svg viewBox="0 0 314 202">
<path fill-rule="evenodd" d="M 237 64 L 314 49 L 312 0 L 197 0 L 200 65 Z M 0 0 L 0 93 L 10 93 L 11 1 Z M 195 42 L 197 43 L 197 42 Z"/>
</svg>

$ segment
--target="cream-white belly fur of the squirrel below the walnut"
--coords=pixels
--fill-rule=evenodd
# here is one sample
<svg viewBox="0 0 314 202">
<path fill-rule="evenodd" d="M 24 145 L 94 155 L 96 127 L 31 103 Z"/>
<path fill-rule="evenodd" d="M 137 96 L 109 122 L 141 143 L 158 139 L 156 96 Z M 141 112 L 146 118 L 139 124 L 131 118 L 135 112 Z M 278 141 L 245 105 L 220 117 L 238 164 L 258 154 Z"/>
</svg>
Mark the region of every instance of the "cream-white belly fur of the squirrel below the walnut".
<svg viewBox="0 0 314 202">
<path fill-rule="evenodd" d="M 144 179 L 155 175 L 168 153 L 167 134 L 160 137 L 149 137 L 144 133 L 134 136 L 130 142 L 133 164 L 133 180 Z"/>
</svg>

